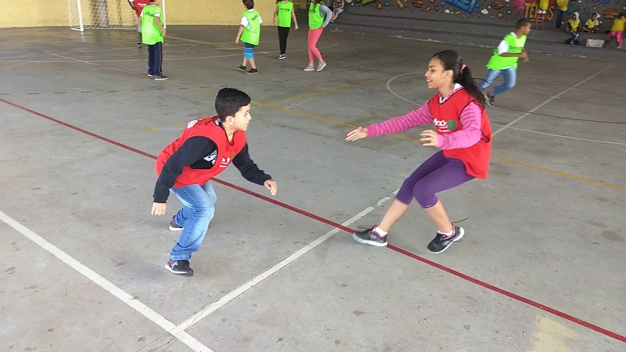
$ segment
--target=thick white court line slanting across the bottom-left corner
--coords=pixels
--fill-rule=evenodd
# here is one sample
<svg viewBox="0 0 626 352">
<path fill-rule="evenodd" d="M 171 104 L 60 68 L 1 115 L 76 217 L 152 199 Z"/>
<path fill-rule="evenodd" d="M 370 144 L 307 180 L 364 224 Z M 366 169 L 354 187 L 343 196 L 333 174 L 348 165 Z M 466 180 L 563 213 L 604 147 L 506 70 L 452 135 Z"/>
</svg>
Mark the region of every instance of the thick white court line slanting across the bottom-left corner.
<svg viewBox="0 0 626 352">
<path fill-rule="evenodd" d="M 120 299 L 120 301 L 122 301 L 123 303 L 126 303 L 129 306 L 131 306 L 131 308 L 135 309 L 136 311 L 141 313 L 141 315 L 153 321 L 153 323 L 157 324 L 158 326 L 163 328 L 165 331 L 170 332 L 176 328 L 176 325 L 174 323 L 163 318 L 161 314 L 158 314 L 152 309 L 148 308 L 148 306 L 141 303 L 137 299 L 133 298 L 133 296 L 126 293 L 126 291 L 123 291 L 122 289 L 120 289 L 120 287 L 115 286 L 110 281 L 108 281 L 104 277 L 97 274 L 95 271 L 89 269 L 88 267 L 83 265 L 81 262 L 69 256 L 69 254 L 67 254 L 66 252 L 61 251 L 61 249 L 58 249 L 58 247 L 54 246 L 50 242 L 41 238 L 41 236 L 34 233 L 30 229 L 28 229 L 27 227 L 20 224 L 18 221 L 12 219 L 11 217 L 9 217 L 9 215 L 6 215 L 1 211 L 0 211 L 0 220 L 2 220 L 5 224 L 13 227 L 13 229 L 18 231 L 20 234 L 23 234 L 25 237 L 27 237 L 31 241 L 38 244 L 39 247 L 45 249 L 53 256 L 57 257 L 58 259 L 61 259 L 61 261 L 63 261 L 65 264 L 68 264 L 68 266 L 72 267 L 72 269 L 80 272 L 81 274 L 83 274 L 83 276 L 87 277 L 88 279 L 93 281 L 95 284 L 97 284 L 98 286 L 108 291 L 110 294 L 113 294 L 113 296 Z M 179 339 L 182 343 L 189 346 L 189 348 L 193 349 L 193 351 L 213 352 L 210 348 L 200 343 L 200 341 L 198 341 L 197 339 L 193 338 L 193 336 L 191 336 L 188 333 L 185 333 L 185 331 L 178 331 L 177 333 L 173 334 L 173 336 Z"/>
</svg>

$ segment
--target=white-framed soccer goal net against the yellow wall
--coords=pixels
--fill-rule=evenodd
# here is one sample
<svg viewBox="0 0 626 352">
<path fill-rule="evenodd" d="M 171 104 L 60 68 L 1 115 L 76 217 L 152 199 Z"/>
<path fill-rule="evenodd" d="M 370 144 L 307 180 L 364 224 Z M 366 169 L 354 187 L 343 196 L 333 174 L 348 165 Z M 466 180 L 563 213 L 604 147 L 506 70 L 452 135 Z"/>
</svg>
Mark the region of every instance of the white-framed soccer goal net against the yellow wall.
<svg viewBox="0 0 626 352">
<path fill-rule="evenodd" d="M 68 6 L 69 28 L 74 31 L 137 28 L 137 14 L 128 0 L 68 0 Z M 165 0 L 161 1 L 161 9 L 165 24 Z"/>
</svg>

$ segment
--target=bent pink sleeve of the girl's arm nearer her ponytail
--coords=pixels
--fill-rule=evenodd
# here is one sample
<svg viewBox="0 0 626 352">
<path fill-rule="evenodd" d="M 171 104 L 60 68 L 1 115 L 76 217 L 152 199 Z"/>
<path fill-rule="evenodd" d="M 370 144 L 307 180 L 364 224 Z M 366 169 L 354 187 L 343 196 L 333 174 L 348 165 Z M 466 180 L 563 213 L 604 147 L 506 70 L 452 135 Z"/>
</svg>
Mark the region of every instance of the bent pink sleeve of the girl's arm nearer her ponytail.
<svg viewBox="0 0 626 352">
<path fill-rule="evenodd" d="M 480 141 L 482 110 L 475 102 L 471 102 L 461 111 L 463 129 L 445 135 L 439 135 L 437 147 L 441 149 L 468 148 Z"/>
</svg>

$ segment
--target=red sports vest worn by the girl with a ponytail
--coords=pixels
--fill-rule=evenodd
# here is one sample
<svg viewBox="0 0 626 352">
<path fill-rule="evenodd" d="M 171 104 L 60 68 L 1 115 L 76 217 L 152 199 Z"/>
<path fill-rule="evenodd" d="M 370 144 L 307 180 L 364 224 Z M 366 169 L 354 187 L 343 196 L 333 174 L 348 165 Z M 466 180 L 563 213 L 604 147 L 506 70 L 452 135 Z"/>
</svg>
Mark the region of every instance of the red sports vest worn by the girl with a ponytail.
<svg viewBox="0 0 626 352">
<path fill-rule="evenodd" d="M 439 95 L 433 96 L 428 102 L 428 108 L 433 113 L 433 122 L 437 127 L 437 133 L 445 135 L 463 130 L 463 125 L 459 120 L 461 111 L 472 101 L 474 98 L 463 88 L 455 91 L 448 100 L 441 104 L 439 103 Z M 443 155 L 461 160 L 469 175 L 485 180 L 489 171 L 489 158 L 491 156 L 491 125 L 485 108 L 482 108 L 480 129 L 482 136 L 478 143 L 468 148 L 444 150 Z"/>
</svg>

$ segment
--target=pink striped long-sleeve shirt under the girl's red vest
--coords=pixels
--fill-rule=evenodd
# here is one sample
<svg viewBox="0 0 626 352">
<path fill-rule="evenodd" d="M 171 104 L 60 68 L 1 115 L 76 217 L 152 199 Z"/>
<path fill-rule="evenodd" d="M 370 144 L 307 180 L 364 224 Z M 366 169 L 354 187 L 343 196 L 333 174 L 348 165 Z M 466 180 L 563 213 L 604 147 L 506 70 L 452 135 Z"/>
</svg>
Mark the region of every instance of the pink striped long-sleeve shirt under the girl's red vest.
<svg viewBox="0 0 626 352">
<path fill-rule="evenodd" d="M 441 149 L 468 148 L 478 143 L 482 135 L 480 130 L 481 115 L 480 106 L 473 101 L 469 103 L 461 111 L 461 116 L 459 116 L 463 129 L 439 135 L 437 147 Z M 427 123 L 433 123 L 433 113 L 428 108 L 428 103 L 406 115 L 369 125 L 367 127 L 367 137 L 403 132 Z"/>
</svg>

